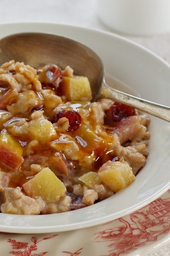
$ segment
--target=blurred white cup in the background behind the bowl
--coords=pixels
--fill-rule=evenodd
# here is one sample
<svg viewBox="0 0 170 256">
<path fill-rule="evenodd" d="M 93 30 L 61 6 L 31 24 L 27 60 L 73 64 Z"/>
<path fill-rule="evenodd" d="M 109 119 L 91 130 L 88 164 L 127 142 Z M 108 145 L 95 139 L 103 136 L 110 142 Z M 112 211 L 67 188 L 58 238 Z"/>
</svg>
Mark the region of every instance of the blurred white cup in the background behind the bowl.
<svg viewBox="0 0 170 256">
<path fill-rule="evenodd" d="M 105 25 L 130 35 L 170 32 L 170 0 L 97 0 Z"/>
</svg>

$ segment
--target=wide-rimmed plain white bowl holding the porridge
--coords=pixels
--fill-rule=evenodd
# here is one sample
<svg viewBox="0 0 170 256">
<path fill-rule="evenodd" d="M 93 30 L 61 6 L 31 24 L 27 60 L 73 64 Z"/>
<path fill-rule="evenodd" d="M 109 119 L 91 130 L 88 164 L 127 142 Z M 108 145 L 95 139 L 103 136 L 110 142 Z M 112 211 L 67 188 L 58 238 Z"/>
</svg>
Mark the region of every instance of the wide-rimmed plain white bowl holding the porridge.
<svg viewBox="0 0 170 256">
<path fill-rule="evenodd" d="M 170 66 L 161 58 L 123 37 L 61 24 L 0 25 L 0 38 L 19 32 L 47 32 L 73 38 L 103 60 L 107 80 L 121 90 L 169 105 Z M 151 116 L 150 155 L 136 181 L 114 196 L 83 209 L 51 215 L 0 214 L 0 231 L 50 233 L 90 227 L 120 218 L 155 200 L 170 187 L 170 124 Z"/>
</svg>

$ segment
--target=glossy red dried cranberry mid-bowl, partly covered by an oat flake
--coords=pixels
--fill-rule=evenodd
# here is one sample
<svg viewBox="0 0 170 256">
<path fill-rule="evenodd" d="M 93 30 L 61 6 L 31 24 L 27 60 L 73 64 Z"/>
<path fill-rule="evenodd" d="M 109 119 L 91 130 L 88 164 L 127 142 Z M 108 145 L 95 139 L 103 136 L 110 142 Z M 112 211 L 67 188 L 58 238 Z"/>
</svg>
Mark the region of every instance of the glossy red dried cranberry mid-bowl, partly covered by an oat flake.
<svg viewBox="0 0 170 256">
<path fill-rule="evenodd" d="M 67 132 L 70 131 L 75 131 L 77 128 L 80 127 L 81 124 L 81 116 L 79 113 L 77 113 L 74 110 L 70 110 L 70 111 L 58 111 L 56 112 L 52 119 L 51 119 L 51 123 L 57 123 L 58 119 L 62 118 L 62 117 L 66 117 L 67 119 L 69 119 L 69 128 L 67 130 Z"/>
</svg>

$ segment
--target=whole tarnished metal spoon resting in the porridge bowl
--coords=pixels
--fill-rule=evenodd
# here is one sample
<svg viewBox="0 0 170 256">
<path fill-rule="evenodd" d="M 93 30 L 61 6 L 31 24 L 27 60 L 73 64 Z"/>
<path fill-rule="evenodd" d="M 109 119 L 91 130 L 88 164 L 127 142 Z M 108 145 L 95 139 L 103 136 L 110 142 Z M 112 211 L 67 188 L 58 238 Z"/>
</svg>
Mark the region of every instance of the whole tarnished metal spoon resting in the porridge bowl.
<svg viewBox="0 0 170 256">
<path fill-rule="evenodd" d="M 93 100 L 105 97 L 170 122 L 170 107 L 110 88 L 104 79 L 103 62 L 87 46 L 67 37 L 46 33 L 19 33 L 0 40 L 0 65 L 14 59 L 35 68 L 70 65 L 76 75 L 88 77 Z"/>
</svg>

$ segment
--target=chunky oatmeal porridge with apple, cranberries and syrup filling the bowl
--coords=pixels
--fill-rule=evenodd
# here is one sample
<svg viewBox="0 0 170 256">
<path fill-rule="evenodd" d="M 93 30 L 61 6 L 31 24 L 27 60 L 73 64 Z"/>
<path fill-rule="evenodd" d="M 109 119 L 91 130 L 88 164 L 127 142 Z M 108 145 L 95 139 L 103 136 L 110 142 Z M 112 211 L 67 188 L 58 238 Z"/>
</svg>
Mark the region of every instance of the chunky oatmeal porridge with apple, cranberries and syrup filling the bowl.
<svg viewBox="0 0 170 256">
<path fill-rule="evenodd" d="M 76 210 L 134 181 L 148 156 L 148 116 L 91 99 L 88 78 L 69 66 L 1 65 L 2 213 Z"/>
</svg>

